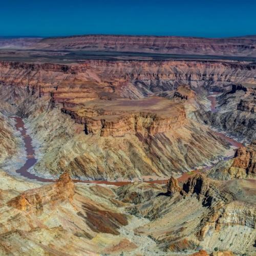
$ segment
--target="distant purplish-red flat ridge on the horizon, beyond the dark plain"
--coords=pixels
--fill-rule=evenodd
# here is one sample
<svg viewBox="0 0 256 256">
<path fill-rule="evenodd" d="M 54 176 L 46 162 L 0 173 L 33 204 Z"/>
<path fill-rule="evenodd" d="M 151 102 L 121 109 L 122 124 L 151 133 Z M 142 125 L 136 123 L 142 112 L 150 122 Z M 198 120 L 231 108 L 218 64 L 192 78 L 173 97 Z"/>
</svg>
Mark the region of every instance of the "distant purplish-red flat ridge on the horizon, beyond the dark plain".
<svg viewBox="0 0 256 256">
<path fill-rule="evenodd" d="M 39 41 L 34 48 L 113 52 L 148 52 L 256 56 L 253 37 L 197 38 L 176 36 L 85 35 L 52 37 Z"/>
</svg>

